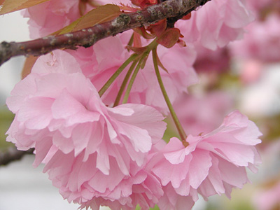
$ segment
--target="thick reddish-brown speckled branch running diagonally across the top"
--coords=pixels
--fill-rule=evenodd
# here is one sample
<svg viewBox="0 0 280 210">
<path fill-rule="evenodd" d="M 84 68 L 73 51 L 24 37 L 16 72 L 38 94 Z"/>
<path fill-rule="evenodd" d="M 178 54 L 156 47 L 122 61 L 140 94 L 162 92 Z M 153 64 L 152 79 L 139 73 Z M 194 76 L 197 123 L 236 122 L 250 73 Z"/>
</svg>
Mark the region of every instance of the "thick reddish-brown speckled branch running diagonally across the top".
<svg viewBox="0 0 280 210">
<path fill-rule="evenodd" d="M 59 48 L 76 49 L 94 45 L 97 41 L 129 29 L 151 25 L 165 18 L 179 17 L 190 13 L 211 0 L 168 0 L 149 6 L 137 13 L 121 14 L 118 18 L 93 27 L 58 36 L 46 36 L 33 41 L 0 43 L 0 66 L 18 55 L 44 55 Z"/>
</svg>

